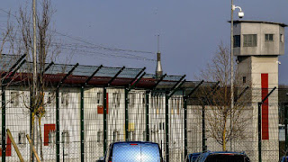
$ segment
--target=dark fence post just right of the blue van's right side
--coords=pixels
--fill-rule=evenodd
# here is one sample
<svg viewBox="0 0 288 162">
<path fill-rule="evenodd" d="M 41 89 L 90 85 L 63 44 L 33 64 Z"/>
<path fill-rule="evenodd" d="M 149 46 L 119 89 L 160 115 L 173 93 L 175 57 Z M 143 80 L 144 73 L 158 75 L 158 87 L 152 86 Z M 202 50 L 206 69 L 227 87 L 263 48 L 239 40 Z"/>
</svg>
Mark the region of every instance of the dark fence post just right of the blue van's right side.
<svg viewBox="0 0 288 162">
<path fill-rule="evenodd" d="M 165 129 L 165 133 L 166 133 L 166 161 L 169 161 L 169 97 L 168 97 L 168 93 L 166 93 L 165 96 L 165 123 L 166 123 L 166 129 Z"/>
</svg>

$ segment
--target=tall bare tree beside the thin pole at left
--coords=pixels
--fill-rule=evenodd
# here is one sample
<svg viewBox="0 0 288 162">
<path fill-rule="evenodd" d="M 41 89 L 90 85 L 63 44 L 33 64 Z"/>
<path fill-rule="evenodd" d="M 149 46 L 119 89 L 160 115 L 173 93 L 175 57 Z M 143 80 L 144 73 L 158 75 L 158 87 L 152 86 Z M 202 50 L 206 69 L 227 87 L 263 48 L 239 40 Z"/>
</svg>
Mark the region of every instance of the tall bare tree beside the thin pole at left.
<svg viewBox="0 0 288 162">
<path fill-rule="evenodd" d="M 19 9 L 19 16 L 17 17 L 17 22 L 19 25 L 19 31 L 21 32 L 20 47 L 21 53 L 31 54 L 32 51 L 32 23 L 31 23 L 31 10 L 23 7 Z M 49 86 L 44 80 L 44 73 L 46 63 L 52 61 L 56 58 L 59 53 L 59 49 L 56 43 L 52 44 L 54 32 L 51 29 L 52 15 L 55 13 L 53 10 L 50 0 L 41 0 L 40 7 L 37 13 L 37 93 L 35 98 L 31 98 L 31 103 L 35 105 L 26 105 L 31 112 L 31 143 L 34 143 L 34 125 L 35 119 L 38 119 L 39 125 L 39 136 L 40 136 L 40 157 L 43 160 L 42 151 L 42 135 L 41 135 L 41 118 L 45 115 L 45 105 L 44 102 L 44 92 Z M 31 55 L 28 55 L 31 56 Z M 28 57 L 31 59 L 31 57 Z M 29 88 L 32 92 L 31 78 L 29 76 Z M 32 145 L 31 145 L 32 146 Z"/>
</svg>

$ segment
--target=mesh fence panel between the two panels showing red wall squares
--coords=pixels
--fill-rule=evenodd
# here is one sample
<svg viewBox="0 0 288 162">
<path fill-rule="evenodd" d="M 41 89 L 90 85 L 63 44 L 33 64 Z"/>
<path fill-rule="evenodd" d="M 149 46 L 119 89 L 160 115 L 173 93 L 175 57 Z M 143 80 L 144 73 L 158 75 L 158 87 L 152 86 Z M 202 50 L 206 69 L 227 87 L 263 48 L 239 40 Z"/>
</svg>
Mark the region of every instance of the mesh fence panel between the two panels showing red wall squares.
<svg viewBox="0 0 288 162">
<path fill-rule="evenodd" d="M 80 160 L 79 91 L 79 88 L 61 88 L 59 92 L 60 160 Z"/>
</svg>

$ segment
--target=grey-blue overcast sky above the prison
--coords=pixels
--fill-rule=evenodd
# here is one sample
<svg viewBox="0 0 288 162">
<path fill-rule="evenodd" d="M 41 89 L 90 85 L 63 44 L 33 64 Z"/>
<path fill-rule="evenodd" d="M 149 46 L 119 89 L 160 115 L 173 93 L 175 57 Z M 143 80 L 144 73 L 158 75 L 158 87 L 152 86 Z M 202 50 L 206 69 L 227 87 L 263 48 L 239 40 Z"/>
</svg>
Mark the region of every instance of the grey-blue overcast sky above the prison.
<svg viewBox="0 0 288 162">
<path fill-rule="evenodd" d="M 4 0 L 0 9 L 16 12 L 23 2 Z M 244 11 L 243 20 L 288 23 L 287 0 L 234 0 L 234 4 Z M 71 64 L 147 67 L 154 73 L 159 34 L 164 73 L 194 80 L 221 41 L 229 47 L 229 0 L 52 0 L 52 5 L 61 55 L 71 58 Z M 6 16 L 0 11 L 1 29 Z M 237 13 L 234 17 L 238 19 Z M 288 85 L 285 31 L 279 83 Z"/>
</svg>

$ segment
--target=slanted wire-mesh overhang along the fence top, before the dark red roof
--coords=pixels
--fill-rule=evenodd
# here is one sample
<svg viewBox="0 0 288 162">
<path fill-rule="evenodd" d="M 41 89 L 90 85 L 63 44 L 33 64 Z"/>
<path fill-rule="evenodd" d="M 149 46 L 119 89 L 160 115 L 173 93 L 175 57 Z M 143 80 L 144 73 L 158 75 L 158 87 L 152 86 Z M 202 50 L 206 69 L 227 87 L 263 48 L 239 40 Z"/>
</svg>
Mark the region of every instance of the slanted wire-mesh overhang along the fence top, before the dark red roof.
<svg viewBox="0 0 288 162">
<path fill-rule="evenodd" d="M 1 55 L 0 72 L 2 76 L 12 79 L 14 84 L 29 83 L 32 63 L 24 61 L 24 58 L 24 55 Z M 18 61 L 16 61 L 17 59 Z M 13 70 L 16 68 L 14 65 L 19 67 L 16 71 Z M 145 67 L 103 67 L 46 63 L 45 68 L 47 70 L 43 73 L 44 82 L 51 85 L 113 87 L 130 87 L 133 85 L 134 88 L 139 89 L 169 90 L 175 88 L 175 85 L 178 85 L 184 79 L 184 76 L 165 75 L 161 80 L 156 75 L 144 74 Z M 193 88 L 198 83 L 197 81 L 185 81 L 181 88 Z"/>
</svg>

